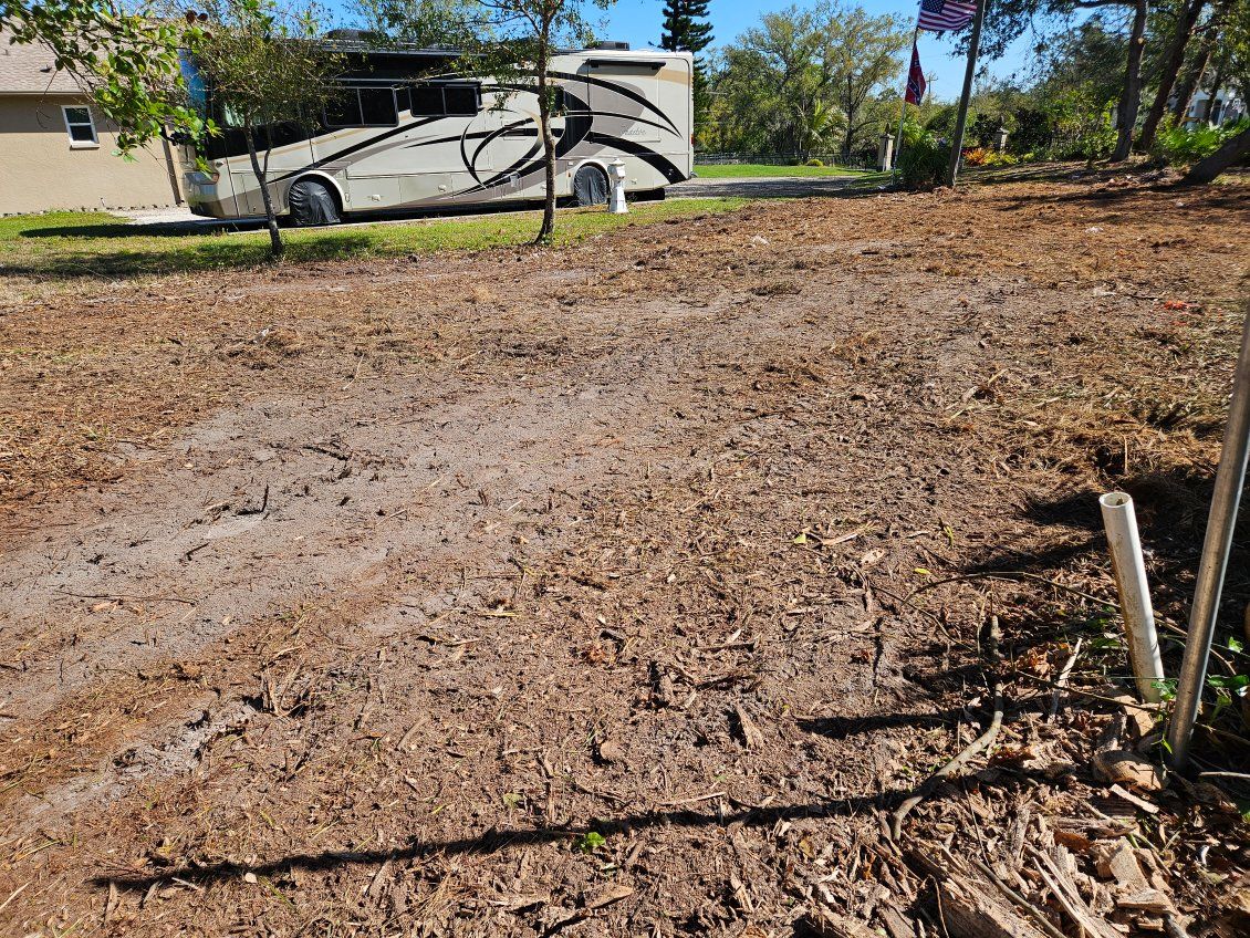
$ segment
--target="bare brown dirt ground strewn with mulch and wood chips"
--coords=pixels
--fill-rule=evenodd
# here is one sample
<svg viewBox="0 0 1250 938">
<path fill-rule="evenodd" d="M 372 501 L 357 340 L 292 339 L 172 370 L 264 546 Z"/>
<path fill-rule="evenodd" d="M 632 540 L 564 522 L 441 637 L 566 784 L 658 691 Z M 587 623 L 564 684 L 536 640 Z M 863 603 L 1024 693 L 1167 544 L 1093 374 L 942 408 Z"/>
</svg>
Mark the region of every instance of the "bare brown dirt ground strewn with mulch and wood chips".
<svg viewBox="0 0 1250 938">
<path fill-rule="evenodd" d="M 1094 498 L 1182 622 L 1246 195 L 10 284 L 0 929 L 958 934 L 922 844 L 1071 934 L 1238 933 L 1229 799 L 1088 764 L 1135 723 Z M 995 753 L 891 840 L 995 680 Z"/>
</svg>

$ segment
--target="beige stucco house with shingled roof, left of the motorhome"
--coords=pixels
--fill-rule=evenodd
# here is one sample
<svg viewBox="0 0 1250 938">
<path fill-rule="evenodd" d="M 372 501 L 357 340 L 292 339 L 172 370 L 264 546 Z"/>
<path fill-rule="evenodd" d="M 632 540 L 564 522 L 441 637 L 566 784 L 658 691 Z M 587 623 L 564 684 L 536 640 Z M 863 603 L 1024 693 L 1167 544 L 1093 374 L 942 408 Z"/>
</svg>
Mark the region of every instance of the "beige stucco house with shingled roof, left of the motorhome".
<svg viewBox="0 0 1250 938">
<path fill-rule="evenodd" d="M 180 200 L 160 141 L 115 155 L 116 128 L 41 45 L 0 34 L 0 215 L 51 209 L 138 209 Z"/>
</svg>

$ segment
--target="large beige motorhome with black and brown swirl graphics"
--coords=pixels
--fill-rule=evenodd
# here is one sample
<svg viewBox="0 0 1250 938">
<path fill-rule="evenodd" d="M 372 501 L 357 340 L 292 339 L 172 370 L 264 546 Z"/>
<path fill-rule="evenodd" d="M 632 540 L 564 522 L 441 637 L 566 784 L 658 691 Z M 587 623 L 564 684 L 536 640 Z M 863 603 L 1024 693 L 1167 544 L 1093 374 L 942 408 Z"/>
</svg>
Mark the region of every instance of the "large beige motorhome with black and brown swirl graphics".
<svg viewBox="0 0 1250 938">
<path fill-rule="evenodd" d="M 691 176 L 692 60 L 689 53 L 630 51 L 624 44 L 564 51 L 551 60 L 556 196 L 608 199 L 609 164 L 625 189 L 662 198 Z M 524 203 L 545 195 L 538 96 L 455 71 L 454 51 L 369 50 L 348 68 L 314 126 L 266 129 L 266 181 L 280 215 L 298 225 L 345 214 Z M 221 133 L 184 143 L 186 200 L 210 218 L 264 214 L 244 131 L 214 103 L 211 79 L 184 61 L 191 98 Z"/>
</svg>

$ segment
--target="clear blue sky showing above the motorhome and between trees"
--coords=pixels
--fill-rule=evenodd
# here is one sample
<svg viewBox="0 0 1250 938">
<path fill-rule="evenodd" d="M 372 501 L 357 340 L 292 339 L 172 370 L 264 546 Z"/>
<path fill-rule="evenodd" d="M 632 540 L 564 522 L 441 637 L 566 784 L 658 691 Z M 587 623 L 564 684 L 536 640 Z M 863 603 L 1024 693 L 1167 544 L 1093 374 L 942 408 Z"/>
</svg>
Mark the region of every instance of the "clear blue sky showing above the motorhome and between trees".
<svg viewBox="0 0 1250 938">
<path fill-rule="evenodd" d="M 902 20 L 915 21 L 920 0 L 844 0 L 862 5 L 872 14 L 894 14 Z M 802 0 L 710 0 L 711 25 L 715 45 L 731 43 L 740 34 L 756 25 L 765 13 L 785 9 L 791 3 L 808 6 Z M 329 0 L 334 10 L 344 10 L 348 0 Z M 606 14 L 602 30 L 604 39 L 628 41 L 634 48 L 654 46 L 660 40 L 662 0 L 616 0 Z M 341 15 L 341 14 L 340 14 Z M 988 65 L 989 71 L 998 76 L 1012 73 L 1028 73 L 1031 65 L 1028 39 L 1020 39 L 1008 50 L 1002 59 Z M 931 33 L 920 34 L 920 64 L 931 83 L 932 94 L 940 99 L 959 96 L 964 81 L 964 59 L 954 55 L 951 36 L 939 39 Z M 899 75 L 902 86 L 902 75 Z"/>
</svg>

